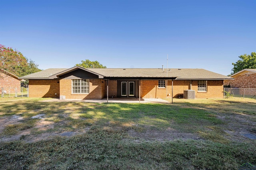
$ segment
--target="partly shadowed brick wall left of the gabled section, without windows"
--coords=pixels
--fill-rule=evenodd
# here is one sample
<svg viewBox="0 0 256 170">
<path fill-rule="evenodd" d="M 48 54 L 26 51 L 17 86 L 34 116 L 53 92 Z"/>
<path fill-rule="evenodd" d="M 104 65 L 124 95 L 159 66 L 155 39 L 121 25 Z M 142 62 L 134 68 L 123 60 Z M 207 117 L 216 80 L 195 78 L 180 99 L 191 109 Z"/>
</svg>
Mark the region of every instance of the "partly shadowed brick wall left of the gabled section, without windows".
<svg viewBox="0 0 256 170">
<path fill-rule="evenodd" d="M 59 80 L 29 80 L 29 97 L 54 98 L 60 96 Z"/>
</svg>

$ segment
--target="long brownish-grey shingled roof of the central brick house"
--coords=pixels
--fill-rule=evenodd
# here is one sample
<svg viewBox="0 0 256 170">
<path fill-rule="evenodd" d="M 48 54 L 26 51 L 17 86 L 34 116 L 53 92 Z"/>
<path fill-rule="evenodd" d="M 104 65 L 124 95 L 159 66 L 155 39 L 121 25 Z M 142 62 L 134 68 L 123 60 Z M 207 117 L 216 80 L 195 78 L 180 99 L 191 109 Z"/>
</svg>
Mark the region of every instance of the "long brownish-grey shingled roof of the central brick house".
<svg viewBox="0 0 256 170">
<path fill-rule="evenodd" d="M 49 68 L 40 72 L 20 77 L 20 79 L 54 79 L 59 75 L 66 74 L 73 70 L 82 69 L 102 78 L 166 78 L 177 80 L 231 80 L 233 78 L 198 68 Z M 166 73 L 168 70 L 168 73 Z"/>
</svg>

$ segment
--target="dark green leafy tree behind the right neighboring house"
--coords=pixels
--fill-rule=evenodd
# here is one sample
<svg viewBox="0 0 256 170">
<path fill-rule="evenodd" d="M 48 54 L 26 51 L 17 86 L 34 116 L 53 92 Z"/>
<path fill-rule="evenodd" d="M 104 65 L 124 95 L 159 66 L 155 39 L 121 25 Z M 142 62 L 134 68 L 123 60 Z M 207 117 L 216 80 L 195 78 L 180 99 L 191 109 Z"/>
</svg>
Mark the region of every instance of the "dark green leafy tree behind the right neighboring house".
<svg viewBox="0 0 256 170">
<path fill-rule="evenodd" d="M 234 68 L 232 68 L 231 74 L 235 74 L 236 72 L 239 72 L 243 69 L 256 69 L 256 53 L 252 52 L 251 55 L 240 55 L 240 60 L 238 60 L 236 63 L 232 63 L 234 65 Z"/>
</svg>

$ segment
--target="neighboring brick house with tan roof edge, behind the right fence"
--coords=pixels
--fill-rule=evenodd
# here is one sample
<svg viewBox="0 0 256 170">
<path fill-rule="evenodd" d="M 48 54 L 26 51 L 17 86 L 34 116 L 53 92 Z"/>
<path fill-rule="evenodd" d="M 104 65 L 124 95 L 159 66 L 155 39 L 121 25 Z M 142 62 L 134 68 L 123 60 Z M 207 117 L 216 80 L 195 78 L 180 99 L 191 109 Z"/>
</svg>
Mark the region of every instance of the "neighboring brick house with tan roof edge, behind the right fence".
<svg viewBox="0 0 256 170">
<path fill-rule="evenodd" d="M 256 88 L 256 69 L 244 69 L 230 77 L 234 80 L 224 81 L 224 85 L 230 85 L 230 88 Z"/>
</svg>

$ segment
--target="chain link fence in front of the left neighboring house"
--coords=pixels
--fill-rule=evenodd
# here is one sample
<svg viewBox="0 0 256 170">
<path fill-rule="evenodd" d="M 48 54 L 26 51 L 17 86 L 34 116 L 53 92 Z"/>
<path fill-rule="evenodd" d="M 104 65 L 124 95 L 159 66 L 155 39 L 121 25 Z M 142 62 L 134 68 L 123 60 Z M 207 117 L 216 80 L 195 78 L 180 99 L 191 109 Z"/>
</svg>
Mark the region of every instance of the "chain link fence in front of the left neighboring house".
<svg viewBox="0 0 256 170">
<path fill-rule="evenodd" d="M 20 88 L 0 88 L 1 97 L 2 98 L 28 98 L 28 88 L 20 87 Z"/>
</svg>

